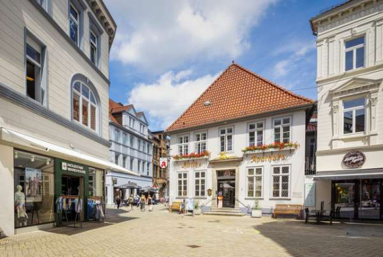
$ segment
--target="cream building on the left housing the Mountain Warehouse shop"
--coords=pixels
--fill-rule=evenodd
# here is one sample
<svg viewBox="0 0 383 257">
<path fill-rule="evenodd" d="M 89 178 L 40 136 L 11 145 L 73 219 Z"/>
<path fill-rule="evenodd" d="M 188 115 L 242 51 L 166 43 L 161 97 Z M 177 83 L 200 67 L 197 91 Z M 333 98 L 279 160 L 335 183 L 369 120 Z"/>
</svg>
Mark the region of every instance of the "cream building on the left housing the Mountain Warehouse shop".
<svg viewBox="0 0 383 257">
<path fill-rule="evenodd" d="M 122 169 L 109 162 L 116 24 L 101 0 L 1 0 L 0 15 L 0 230 L 52 226 L 65 197 L 82 204 L 65 221 L 86 220 Z"/>
</svg>

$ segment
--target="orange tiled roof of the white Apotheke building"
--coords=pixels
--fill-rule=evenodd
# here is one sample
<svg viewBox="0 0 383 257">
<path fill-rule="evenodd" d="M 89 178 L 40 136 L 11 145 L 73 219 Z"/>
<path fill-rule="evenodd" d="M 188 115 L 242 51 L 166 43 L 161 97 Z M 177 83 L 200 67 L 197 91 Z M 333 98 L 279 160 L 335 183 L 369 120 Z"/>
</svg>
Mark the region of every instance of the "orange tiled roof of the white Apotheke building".
<svg viewBox="0 0 383 257">
<path fill-rule="evenodd" d="M 313 100 L 281 88 L 233 63 L 166 131 L 224 122 L 312 103 Z"/>
</svg>

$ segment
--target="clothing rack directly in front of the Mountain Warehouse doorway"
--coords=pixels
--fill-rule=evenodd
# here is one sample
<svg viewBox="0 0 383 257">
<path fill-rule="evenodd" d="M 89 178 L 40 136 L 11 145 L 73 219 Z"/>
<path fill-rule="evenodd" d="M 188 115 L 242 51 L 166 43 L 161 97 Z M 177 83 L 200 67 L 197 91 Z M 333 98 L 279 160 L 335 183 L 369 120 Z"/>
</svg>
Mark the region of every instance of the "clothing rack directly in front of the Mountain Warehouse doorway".
<svg viewBox="0 0 383 257">
<path fill-rule="evenodd" d="M 56 226 L 70 226 L 70 227 L 73 227 L 73 228 L 76 228 L 76 224 L 80 224 L 80 228 L 82 228 L 82 221 L 81 221 L 81 213 L 82 213 L 82 210 L 84 209 L 83 206 L 81 206 L 82 204 L 82 199 L 81 197 L 79 196 L 74 196 L 74 195 L 61 195 L 59 196 L 57 199 L 56 199 L 56 204 L 57 204 L 57 201 L 58 201 L 58 204 L 61 204 L 61 199 L 63 199 L 63 201 L 65 201 L 65 206 L 66 206 L 66 199 L 70 199 L 70 202 L 68 202 L 68 208 L 63 208 L 63 206 L 60 206 L 62 207 L 61 209 L 58 210 L 58 219 L 59 219 L 59 224 L 57 224 L 56 222 Z M 71 210 L 71 205 L 73 203 L 73 201 L 77 201 L 77 204 L 75 203 L 75 220 L 73 222 L 69 222 L 68 221 L 68 210 Z M 70 203 L 70 204 L 69 204 Z M 63 214 L 65 215 L 65 223 L 66 224 L 63 224 Z"/>
</svg>

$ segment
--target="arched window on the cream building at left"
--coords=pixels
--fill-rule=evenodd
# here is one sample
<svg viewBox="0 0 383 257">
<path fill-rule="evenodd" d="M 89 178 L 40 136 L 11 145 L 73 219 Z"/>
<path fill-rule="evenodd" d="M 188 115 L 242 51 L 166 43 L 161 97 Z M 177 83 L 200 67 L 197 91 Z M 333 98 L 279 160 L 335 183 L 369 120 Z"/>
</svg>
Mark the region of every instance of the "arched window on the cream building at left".
<svg viewBox="0 0 383 257">
<path fill-rule="evenodd" d="M 81 81 L 72 83 L 72 119 L 97 131 L 97 108 L 92 90 Z"/>
</svg>

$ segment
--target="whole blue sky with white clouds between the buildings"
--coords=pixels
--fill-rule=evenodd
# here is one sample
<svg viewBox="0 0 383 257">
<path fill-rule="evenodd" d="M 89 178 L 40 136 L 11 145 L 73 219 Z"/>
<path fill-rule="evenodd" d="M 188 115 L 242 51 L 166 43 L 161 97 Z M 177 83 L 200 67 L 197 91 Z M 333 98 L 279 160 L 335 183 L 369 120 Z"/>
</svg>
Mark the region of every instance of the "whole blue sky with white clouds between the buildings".
<svg viewBox="0 0 383 257">
<path fill-rule="evenodd" d="M 316 99 L 308 20 L 329 0 L 105 0 L 118 25 L 110 97 L 169 126 L 232 60 Z"/>
</svg>

